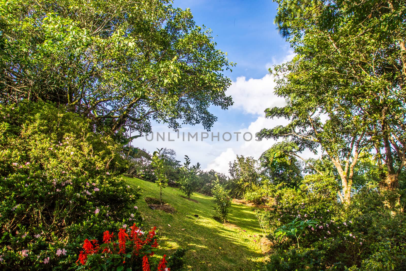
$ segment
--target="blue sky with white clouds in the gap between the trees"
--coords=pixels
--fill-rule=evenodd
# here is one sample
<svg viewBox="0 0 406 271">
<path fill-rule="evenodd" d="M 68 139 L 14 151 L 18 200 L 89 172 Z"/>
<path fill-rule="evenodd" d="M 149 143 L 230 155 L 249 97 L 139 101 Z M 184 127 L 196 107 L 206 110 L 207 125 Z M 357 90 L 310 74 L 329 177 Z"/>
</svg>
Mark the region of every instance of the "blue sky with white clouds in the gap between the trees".
<svg viewBox="0 0 406 271">
<path fill-rule="evenodd" d="M 227 90 L 234 105 L 227 111 L 212 107 L 211 112 L 218 117 L 212 132 L 230 132 L 230 141 L 201 141 L 200 133 L 205 132 L 200 125 L 184 126 L 180 132 L 199 132 L 199 141 L 173 142 L 156 141 L 156 132 L 175 132 L 162 124 L 153 124 L 153 141 L 145 137 L 133 141 L 133 145 L 144 147 L 149 152 L 156 148 L 168 147 L 177 152 L 177 159 L 184 160 L 188 155 L 192 163 L 201 163 L 202 169 L 215 169 L 227 173 L 228 163 L 235 155 L 253 156 L 267 150 L 274 141 L 236 141 L 235 132 L 255 134 L 261 128 L 271 128 L 284 124 L 282 119 L 265 119 L 263 111 L 272 106 L 283 106 L 284 101 L 273 94 L 273 78 L 268 68 L 283 63 L 293 56 L 292 50 L 279 35 L 274 25 L 276 3 L 272 1 L 223 1 L 223 0 L 174 0 L 174 7 L 190 8 L 197 25 L 203 24 L 213 30 L 217 48 L 227 52 L 229 61 L 237 63 L 233 72 L 225 71 L 233 83 Z M 151 137 L 149 137 L 151 139 Z M 227 138 L 227 137 L 226 137 Z M 209 138 L 210 139 L 210 138 Z"/>
</svg>

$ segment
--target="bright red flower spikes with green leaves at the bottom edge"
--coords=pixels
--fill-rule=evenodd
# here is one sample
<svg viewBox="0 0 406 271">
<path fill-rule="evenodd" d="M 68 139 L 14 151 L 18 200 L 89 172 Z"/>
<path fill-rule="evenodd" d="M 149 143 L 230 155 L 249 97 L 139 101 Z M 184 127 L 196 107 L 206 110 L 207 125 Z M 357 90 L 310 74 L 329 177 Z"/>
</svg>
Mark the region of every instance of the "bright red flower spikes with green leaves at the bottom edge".
<svg viewBox="0 0 406 271">
<path fill-rule="evenodd" d="M 147 234 L 134 223 L 128 230 L 119 229 L 114 235 L 106 230 L 103 233 L 103 244 L 97 240 L 85 239 L 83 250 L 80 251 L 77 270 L 143 270 L 151 271 L 155 262 L 152 258 L 158 250 L 154 227 Z M 157 264 L 158 271 L 169 271 L 166 255 Z"/>
</svg>

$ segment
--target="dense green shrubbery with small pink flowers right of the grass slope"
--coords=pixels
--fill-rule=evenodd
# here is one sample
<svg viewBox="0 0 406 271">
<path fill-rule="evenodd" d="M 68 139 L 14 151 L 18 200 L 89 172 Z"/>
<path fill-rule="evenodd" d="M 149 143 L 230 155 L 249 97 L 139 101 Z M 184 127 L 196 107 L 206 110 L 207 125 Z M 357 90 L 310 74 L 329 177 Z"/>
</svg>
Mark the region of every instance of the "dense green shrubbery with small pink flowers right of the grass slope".
<svg viewBox="0 0 406 271">
<path fill-rule="evenodd" d="M 283 238 L 277 244 L 278 230 L 268 235 L 274 243 L 274 253 L 264 269 L 405 270 L 404 214 L 401 209 L 385 204 L 393 198 L 403 201 L 400 194 L 395 194 L 368 187 L 358 191 L 349 205 L 344 205 L 328 184 L 318 187 L 303 184 L 298 189 L 275 191 L 272 208 L 257 213 L 270 232 L 277 228 L 293 230 L 294 223 L 289 226 L 292 220 L 318 222 L 307 225 L 307 230 L 299 234 L 300 247 L 294 244 L 294 238 Z M 299 235 L 296 231 L 295 237 Z"/>
</svg>

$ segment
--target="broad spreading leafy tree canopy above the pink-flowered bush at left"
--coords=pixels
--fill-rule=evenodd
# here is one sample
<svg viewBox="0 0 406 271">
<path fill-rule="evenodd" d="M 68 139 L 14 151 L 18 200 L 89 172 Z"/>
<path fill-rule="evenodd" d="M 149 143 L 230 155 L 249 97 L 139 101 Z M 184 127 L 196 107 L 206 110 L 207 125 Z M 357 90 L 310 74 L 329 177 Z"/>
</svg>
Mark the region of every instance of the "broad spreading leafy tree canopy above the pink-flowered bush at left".
<svg viewBox="0 0 406 271">
<path fill-rule="evenodd" d="M 1 0 L 0 101 L 69 105 L 116 132 L 177 128 L 227 109 L 234 63 L 166 0 Z M 181 120 L 181 121 L 179 121 Z"/>
</svg>

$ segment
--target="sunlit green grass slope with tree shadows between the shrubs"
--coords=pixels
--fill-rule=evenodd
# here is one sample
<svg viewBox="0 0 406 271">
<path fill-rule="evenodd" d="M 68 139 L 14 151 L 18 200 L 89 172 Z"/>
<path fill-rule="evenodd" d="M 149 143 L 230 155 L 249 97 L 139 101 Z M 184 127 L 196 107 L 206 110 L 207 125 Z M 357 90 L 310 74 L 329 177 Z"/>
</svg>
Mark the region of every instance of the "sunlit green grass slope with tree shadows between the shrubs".
<svg viewBox="0 0 406 271">
<path fill-rule="evenodd" d="M 213 219 L 216 214 L 211 197 L 195 193 L 191 198 L 199 202 L 196 203 L 180 197 L 184 194 L 179 189 L 166 187 L 163 200 L 176 210 L 169 214 L 151 210 L 144 201 L 147 196 L 159 198 L 154 183 L 125 179 L 143 190 L 138 210 L 145 217 L 146 227 L 158 227 L 163 250 L 170 255 L 179 247 L 189 249 L 184 270 L 255 270 L 257 262 L 263 260 L 259 245 L 261 229 L 251 207 L 233 203 L 229 224 L 223 225 Z"/>
</svg>

